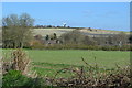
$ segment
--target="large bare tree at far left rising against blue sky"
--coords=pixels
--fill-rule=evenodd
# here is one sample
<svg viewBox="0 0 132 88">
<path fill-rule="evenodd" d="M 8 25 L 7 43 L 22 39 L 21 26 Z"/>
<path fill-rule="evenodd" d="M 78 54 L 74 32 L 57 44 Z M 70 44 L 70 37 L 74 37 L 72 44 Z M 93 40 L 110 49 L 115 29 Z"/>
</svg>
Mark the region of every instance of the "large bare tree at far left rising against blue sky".
<svg viewBox="0 0 132 88">
<path fill-rule="evenodd" d="M 30 40 L 32 40 L 32 26 L 34 19 L 28 13 L 20 16 L 10 14 L 2 19 L 2 40 L 4 45 L 6 41 L 13 41 L 13 47 L 23 47 Z M 10 46 L 10 43 L 9 43 Z"/>
</svg>

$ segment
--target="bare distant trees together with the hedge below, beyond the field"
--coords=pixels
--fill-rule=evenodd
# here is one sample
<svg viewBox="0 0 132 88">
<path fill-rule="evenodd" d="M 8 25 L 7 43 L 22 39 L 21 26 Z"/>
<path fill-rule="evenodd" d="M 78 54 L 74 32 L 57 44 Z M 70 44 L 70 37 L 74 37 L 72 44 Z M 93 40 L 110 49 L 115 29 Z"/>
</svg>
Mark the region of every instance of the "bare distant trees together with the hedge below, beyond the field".
<svg viewBox="0 0 132 88">
<path fill-rule="evenodd" d="M 62 34 L 56 43 L 47 44 L 48 40 L 55 40 L 57 34 L 42 36 L 34 43 L 31 48 L 41 50 L 103 50 L 103 51 L 131 51 L 131 35 L 125 33 L 112 34 L 109 36 L 88 36 L 79 30 L 74 30 Z M 38 36 L 37 36 L 38 37 Z M 131 40 L 131 41 L 130 41 Z M 42 42 L 43 41 L 43 42 Z"/>
</svg>

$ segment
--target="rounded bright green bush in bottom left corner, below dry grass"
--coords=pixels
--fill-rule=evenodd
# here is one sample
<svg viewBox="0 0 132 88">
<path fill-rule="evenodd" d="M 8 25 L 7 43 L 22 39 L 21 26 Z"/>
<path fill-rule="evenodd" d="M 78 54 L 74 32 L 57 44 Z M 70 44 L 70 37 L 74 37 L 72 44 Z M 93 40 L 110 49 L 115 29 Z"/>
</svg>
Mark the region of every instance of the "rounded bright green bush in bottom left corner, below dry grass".
<svg viewBox="0 0 132 88">
<path fill-rule="evenodd" d="M 14 88 L 14 87 L 31 87 L 33 84 L 31 78 L 23 76 L 20 70 L 9 70 L 3 76 L 2 87 Z"/>
</svg>

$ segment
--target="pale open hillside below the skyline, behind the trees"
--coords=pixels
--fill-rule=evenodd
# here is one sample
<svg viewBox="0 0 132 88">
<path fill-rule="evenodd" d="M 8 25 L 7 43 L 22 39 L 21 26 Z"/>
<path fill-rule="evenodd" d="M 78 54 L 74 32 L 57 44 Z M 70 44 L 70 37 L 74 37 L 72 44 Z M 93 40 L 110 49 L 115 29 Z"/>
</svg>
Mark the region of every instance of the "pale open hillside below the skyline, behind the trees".
<svg viewBox="0 0 132 88">
<path fill-rule="evenodd" d="M 42 36 L 45 36 L 47 34 L 56 33 L 57 36 L 61 36 L 64 33 L 70 32 L 73 30 L 79 30 L 85 35 L 112 35 L 118 34 L 122 31 L 110 31 L 110 30 L 97 30 L 97 29 L 34 29 L 33 34 L 37 35 L 41 34 Z M 129 32 L 124 32 L 127 34 L 130 34 Z"/>
</svg>

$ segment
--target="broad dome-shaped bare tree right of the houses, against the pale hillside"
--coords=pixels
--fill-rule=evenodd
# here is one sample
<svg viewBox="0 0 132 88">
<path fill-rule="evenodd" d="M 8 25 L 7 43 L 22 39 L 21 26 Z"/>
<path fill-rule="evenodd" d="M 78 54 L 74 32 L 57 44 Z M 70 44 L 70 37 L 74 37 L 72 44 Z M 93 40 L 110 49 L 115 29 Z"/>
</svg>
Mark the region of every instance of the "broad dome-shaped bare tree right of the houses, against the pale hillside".
<svg viewBox="0 0 132 88">
<path fill-rule="evenodd" d="M 74 30 L 61 36 L 64 44 L 96 45 L 92 37 L 84 35 L 80 31 Z"/>
</svg>

